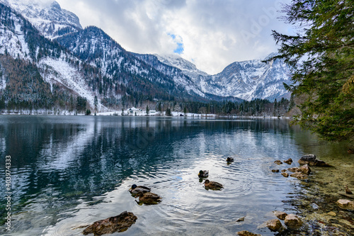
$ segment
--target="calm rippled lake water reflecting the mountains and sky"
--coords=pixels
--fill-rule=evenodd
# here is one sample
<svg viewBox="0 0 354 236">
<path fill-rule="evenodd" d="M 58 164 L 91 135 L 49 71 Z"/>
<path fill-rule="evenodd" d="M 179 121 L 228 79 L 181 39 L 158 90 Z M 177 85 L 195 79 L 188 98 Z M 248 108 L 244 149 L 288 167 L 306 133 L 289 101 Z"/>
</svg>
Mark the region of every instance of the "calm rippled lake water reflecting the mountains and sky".
<svg viewBox="0 0 354 236">
<path fill-rule="evenodd" d="M 353 155 L 347 148 L 319 141 L 282 119 L 0 116 L 0 234 L 81 235 L 84 229 L 77 227 L 127 210 L 137 222 L 113 235 L 236 235 L 240 230 L 275 235 L 258 226 L 275 218 L 273 210 L 312 217 L 321 202 L 308 203 L 314 210 L 305 215 L 299 199 L 327 194 L 319 186 L 329 171 L 315 168 L 309 181 L 299 181 L 271 170 L 298 167 L 303 154 L 313 153 L 338 165 L 326 185 L 353 186 Z M 3 207 L 7 155 L 10 232 Z M 227 164 L 227 157 L 234 162 Z M 274 163 L 288 158 L 294 163 Z M 208 179 L 224 189 L 204 189 L 200 169 L 209 170 Z M 336 172 L 343 169 L 348 174 L 338 179 Z M 128 192 L 132 184 L 151 187 L 161 203 L 139 206 Z M 245 220 L 236 223 L 241 217 Z"/>
</svg>

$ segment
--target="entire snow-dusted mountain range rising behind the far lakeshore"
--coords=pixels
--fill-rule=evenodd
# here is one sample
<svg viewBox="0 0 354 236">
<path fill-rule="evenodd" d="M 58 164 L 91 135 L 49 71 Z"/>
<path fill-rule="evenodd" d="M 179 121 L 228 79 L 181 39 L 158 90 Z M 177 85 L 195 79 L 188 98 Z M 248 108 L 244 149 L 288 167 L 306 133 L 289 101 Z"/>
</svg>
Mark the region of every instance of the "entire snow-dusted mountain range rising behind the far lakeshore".
<svg viewBox="0 0 354 236">
<path fill-rule="evenodd" d="M 82 29 L 79 18 L 56 1 L 41 2 L 0 0 L 0 100 L 6 103 L 32 103 L 37 96 L 45 106 L 62 107 L 74 96 L 92 108 L 97 97 L 98 108 L 118 108 L 127 101 L 136 106 L 287 96 L 282 83 L 290 82 L 289 69 L 281 60 L 234 62 L 210 75 L 178 55 L 127 52 L 100 28 Z M 21 78 L 25 85 L 18 86 Z M 31 95 L 33 88 L 40 94 Z M 22 94 L 19 101 L 12 92 Z"/>
</svg>

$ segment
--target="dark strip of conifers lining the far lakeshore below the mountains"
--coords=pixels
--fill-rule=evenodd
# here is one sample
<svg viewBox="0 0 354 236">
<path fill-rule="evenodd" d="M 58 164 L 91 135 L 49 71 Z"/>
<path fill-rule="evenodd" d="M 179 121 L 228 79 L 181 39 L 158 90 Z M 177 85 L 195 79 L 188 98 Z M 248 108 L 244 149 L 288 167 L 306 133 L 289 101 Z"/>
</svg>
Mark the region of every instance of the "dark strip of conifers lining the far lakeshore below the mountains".
<svg viewBox="0 0 354 236">
<path fill-rule="evenodd" d="M 36 110 L 46 110 L 50 113 L 56 113 L 57 111 L 69 111 L 70 113 L 87 113 L 88 110 L 97 111 L 97 99 L 95 99 L 95 107 L 89 106 L 88 101 L 81 96 L 73 97 L 72 95 L 67 96 L 68 99 L 61 100 L 61 104 L 46 104 L 42 106 L 41 103 L 35 103 L 34 101 L 18 101 L 16 99 L 11 99 L 5 102 L 6 99 L 3 96 L 0 98 L 0 113 L 11 113 L 21 111 L 30 111 L 30 113 Z M 116 110 L 121 111 L 129 108 L 130 103 L 125 103 L 122 106 L 123 101 L 117 101 Z M 210 101 L 210 102 L 199 102 L 199 101 L 145 101 L 142 102 L 142 111 L 155 110 L 160 113 L 166 112 L 168 116 L 171 111 L 178 113 L 198 113 L 198 114 L 217 114 L 224 116 L 283 116 L 287 111 L 289 111 L 295 103 L 292 99 L 281 99 L 280 101 L 270 102 L 264 99 L 255 99 L 253 101 Z"/>
</svg>

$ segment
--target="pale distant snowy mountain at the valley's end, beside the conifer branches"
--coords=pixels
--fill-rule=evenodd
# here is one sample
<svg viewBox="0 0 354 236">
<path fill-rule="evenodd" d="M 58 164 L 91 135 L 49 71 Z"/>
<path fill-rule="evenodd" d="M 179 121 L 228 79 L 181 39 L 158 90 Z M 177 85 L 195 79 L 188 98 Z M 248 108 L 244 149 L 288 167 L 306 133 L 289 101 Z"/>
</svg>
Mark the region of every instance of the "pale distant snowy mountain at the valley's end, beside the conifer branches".
<svg viewBox="0 0 354 236">
<path fill-rule="evenodd" d="M 290 95 L 282 86 L 283 82 L 290 82 L 290 72 L 286 64 L 282 60 L 262 62 L 273 56 L 270 54 L 264 59 L 234 62 L 215 75 L 200 72 L 194 64 L 177 55 L 158 58 L 161 62 L 180 68 L 203 93 L 234 96 L 248 101 L 252 99 L 273 101 L 284 96 L 289 98 Z"/>
</svg>

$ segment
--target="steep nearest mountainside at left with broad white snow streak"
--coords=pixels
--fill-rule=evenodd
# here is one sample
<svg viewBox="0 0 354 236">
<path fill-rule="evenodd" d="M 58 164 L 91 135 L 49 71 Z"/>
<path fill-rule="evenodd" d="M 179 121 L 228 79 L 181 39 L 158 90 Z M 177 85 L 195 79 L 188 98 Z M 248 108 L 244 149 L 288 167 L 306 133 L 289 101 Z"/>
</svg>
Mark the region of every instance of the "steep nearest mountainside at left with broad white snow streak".
<svg viewBox="0 0 354 236">
<path fill-rule="evenodd" d="M 3 4 L 0 4 L 0 19 L 3 89 L 0 92 L 7 101 L 36 101 L 52 106 L 50 103 L 55 101 L 53 94 L 56 94 L 61 96 L 59 100 L 62 102 L 69 101 L 70 95 L 74 95 L 85 98 L 93 105 L 98 93 L 89 82 L 100 78 L 100 74 L 86 73 L 85 65 L 78 58 L 44 38 L 21 14 Z M 26 74 L 28 70 L 30 75 Z"/>
</svg>

